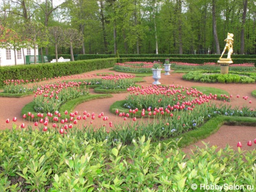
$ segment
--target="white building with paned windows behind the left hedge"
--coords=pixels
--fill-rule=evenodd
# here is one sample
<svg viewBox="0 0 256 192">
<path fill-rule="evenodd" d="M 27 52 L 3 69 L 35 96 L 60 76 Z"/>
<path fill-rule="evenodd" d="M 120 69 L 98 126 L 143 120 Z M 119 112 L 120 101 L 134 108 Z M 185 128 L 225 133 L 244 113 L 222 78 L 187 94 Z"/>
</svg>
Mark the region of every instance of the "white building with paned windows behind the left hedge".
<svg viewBox="0 0 256 192">
<path fill-rule="evenodd" d="M 17 65 L 24 65 L 26 63 L 24 56 L 34 56 L 34 49 L 24 48 L 23 50 L 16 50 Z M 36 56 L 38 56 L 38 49 L 36 49 Z M 0 48 L 0 66 L 10 65 L 15 65 L 14 50 Z"/>
</svg>

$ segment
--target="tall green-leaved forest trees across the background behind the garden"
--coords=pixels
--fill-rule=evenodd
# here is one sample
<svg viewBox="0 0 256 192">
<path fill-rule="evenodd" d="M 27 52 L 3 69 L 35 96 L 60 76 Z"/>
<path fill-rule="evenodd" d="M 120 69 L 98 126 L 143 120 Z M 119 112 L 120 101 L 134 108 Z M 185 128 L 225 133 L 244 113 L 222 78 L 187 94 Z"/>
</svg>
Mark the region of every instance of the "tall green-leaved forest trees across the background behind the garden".
<svg viewBox="0 0 256 192">
<path fill-rule="evenodd" d="M 228 32 L 234 54 L 256 54 L 255 1 L 3 0 L 0 9 L 1 28 L 46 55 L 220 54 Z"/>
</svg>

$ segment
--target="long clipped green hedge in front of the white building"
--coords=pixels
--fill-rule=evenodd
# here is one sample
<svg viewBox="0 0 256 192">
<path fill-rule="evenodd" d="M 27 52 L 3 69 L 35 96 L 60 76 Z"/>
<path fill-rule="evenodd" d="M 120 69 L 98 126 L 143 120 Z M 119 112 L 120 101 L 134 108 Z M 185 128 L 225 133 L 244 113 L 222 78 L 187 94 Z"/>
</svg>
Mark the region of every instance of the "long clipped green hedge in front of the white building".
<svg viewBox="0 0 256 192">
<path fill-rule="evenodd" d="M 62 63 L 38 63 L 36 65 L 17 65 L 0 67 L 0 87 L 4 85 L 4 80 L 8 79 L 42 79 L 83 72 L 94 71 L 97 69 L 110 68 L 117 63 L 117 59 L 94 59 L 78 60 L 74 62 Z"/>
</svg>

